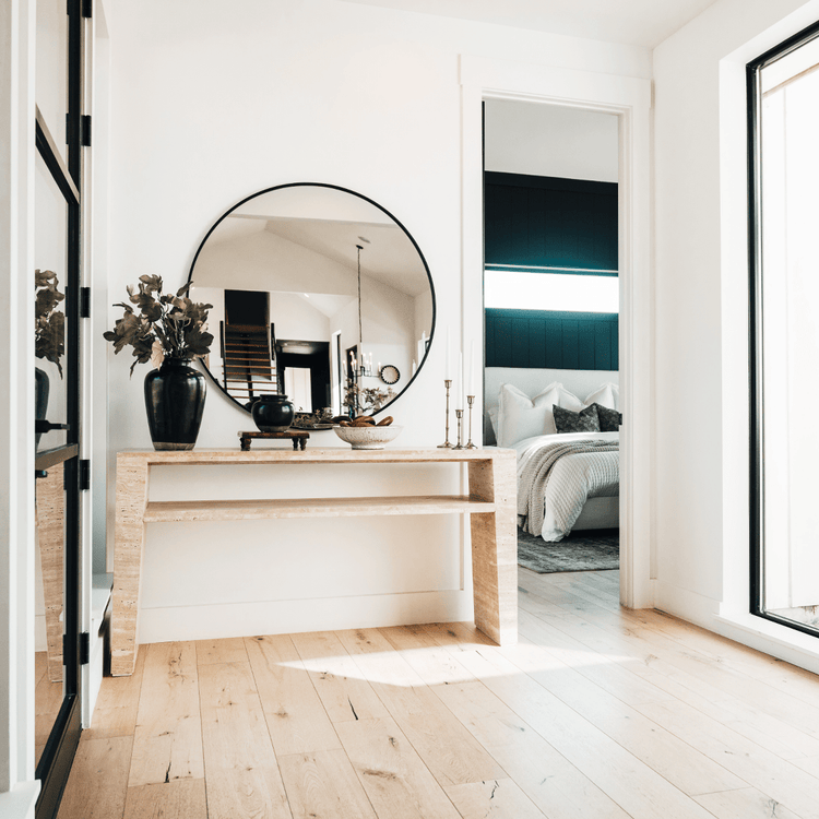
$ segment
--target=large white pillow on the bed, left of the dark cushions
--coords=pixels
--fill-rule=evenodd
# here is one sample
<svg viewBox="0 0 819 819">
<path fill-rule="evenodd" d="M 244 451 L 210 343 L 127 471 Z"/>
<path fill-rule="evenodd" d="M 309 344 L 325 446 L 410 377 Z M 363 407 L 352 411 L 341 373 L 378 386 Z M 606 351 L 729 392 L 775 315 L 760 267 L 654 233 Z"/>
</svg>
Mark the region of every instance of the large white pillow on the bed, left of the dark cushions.
<svg viewBox="0 0 819 819">
<path fill-rule="evenodd" d="M 551 412 L 555 404 L 572 412 L 583 408 L 580 399 L 557 382 L 550 383 L 533 399 L 512 384 L 501 384 L 496 426 L 498 447 L 513 447 L 518 441 L 537 435 L 557 435 Z"/>
</svg>

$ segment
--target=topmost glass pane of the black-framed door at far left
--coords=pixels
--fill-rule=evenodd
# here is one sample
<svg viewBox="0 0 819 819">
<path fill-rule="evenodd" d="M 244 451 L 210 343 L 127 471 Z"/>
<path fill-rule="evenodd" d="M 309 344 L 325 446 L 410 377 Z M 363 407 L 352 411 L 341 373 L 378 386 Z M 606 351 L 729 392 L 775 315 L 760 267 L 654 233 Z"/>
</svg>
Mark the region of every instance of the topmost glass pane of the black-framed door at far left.
<svg viewBox="0 0 819 819">
<path fill-rule="evenodd" d="M 35 99 L 62 158 L 68 111 L 68 13 L 66 0 L 37 0 Z"/>
</svg>

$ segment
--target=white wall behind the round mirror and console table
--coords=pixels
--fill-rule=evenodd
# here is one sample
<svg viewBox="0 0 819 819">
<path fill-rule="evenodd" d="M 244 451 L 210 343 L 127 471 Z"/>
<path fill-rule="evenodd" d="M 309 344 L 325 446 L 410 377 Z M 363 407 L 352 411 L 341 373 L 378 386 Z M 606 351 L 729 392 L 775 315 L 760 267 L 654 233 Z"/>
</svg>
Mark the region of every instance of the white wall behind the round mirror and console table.
<svg viewBox="0 0 819 819">
<path fill-rule="evenodd" d="M 458 339 L 459 55 L 650 74 L 644 49 L 333 0 L 209 0 L 197 3 L 195 13 L 188 3 L 144 0 L 116 11 L 109 20 L 116 44 L 111 300 L 142 273 L 162 273 L 169 286 L 185 281 L 204 233 L 241 198 L 272 185 L 322 181 L 364 193 L 407 227 L 431 270 L 439 328 L 451 325 Z M 442 367 L 438 343 L 429 365 L 391 410 L 404 425 L 397 444 L 435 446 L 442 439 Z M 129 381 L 127 363 L 110 357 L 112 452 L 151 446 L 143 376 L 141 370 Z M 237 431 L 248 427 L 249 417 L 211 390 L 198 446 L 235 447 Z M 332 432 L 318 434 L 310 446 L 336 442 Z M 260 490 L 256 473 L 228 479 L 200 468 L 171 480 L 155 472 L 164 497 L 200 488 L 219 496 L 228 485 L 238 492 Z M 394 470 L 380 482 L 376 471 L 363 473 L 330 480 L 319 471 L 300 489 L 383 491 L 387 477 L 399 494 L 427 491 L 428 480 L 458 486 L 456 475 L 436 477 L 430 467 Z M 271 473 L 262 489 L 280 494 L 290 488 L 286 482 L 281 472 Z M 470 573 L 468 563 L 459 568 L 460 533 L 459 521 L 448 518 L 378 526 L 366 520 L 332 527 L 321 521 L 229 530 L 149 526 L 143 594 L 153 614 L 144 618 L 143 639 L 191 636 L 192 620 L 204 637 L 209 630 L 215 636 L 219 629 L 319 628 L 356 618 L 468 618 Z M 242 538 L 247 546 L 237 547 Z M 355 583 L 345 568 L 349 561 Z M 285 593 L 283 572 L 293 579 L 286 605 L 275 603 Z M 334 572 L 343 581 L 328 586 Z M 221 574 L 223 607 L 212 609 L 211 592 L 197 590 L 210 590 Z M 260 577 L 271 582 L 253 580 L 249 592 L 246 579 Z M 462 585 L 465 592 L 452 591 Z M 253 610 L 264 613 L 261 621 L 250 616 L 249 594 L 256 595 Z M 237 612 L 248 619 L 240 621 Z"/>
</svg>

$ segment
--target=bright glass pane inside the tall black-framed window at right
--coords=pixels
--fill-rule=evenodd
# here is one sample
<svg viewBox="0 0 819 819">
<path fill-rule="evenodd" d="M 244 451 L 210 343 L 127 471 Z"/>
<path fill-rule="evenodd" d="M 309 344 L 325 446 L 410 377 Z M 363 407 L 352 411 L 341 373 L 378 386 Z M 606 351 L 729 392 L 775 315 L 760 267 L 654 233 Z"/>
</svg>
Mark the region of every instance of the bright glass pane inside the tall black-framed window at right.
<svg viewBox="0 0 819 819">
<path fill-rule="evenodd" d="M 809 44 L 762 70 L 763 609 L 819 622 L 819 56 Z M 785 71 L 788 63 L 791 69 Z M 771 78 L 768 76 L 769 71 Z"/>
</svg>

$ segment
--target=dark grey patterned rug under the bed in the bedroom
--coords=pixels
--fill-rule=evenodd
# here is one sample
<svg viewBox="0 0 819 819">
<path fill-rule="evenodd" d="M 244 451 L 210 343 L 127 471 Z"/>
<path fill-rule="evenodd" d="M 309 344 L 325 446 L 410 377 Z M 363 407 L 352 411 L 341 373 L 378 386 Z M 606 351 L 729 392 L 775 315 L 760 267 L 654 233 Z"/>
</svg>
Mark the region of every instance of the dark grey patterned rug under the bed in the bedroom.
<svg viewBox="0 0 819 819">
<path fill-rule="evenodd" d="M 538 574 L 558 571 L 604 571 L 620 568 L 619 530 L 572 532 L 559 543 L 518 530 L 518 565 Z"/>
</svg>

